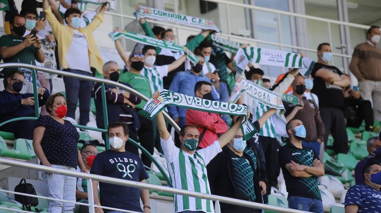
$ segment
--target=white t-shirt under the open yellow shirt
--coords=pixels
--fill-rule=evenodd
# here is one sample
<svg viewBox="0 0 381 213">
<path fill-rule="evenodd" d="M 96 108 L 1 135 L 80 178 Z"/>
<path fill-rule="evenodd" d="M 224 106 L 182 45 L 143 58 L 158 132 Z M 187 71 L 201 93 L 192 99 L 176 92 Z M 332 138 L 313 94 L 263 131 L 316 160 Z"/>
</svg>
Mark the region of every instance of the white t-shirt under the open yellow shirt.
<svg viewBox="0 0 381 213">
<path fill-rule="evenodd" d="M 66 54 L 67 68 L 90 72 L 88 44 L 85 35 L 74 30 L 74 36 Z"/>
</svg>

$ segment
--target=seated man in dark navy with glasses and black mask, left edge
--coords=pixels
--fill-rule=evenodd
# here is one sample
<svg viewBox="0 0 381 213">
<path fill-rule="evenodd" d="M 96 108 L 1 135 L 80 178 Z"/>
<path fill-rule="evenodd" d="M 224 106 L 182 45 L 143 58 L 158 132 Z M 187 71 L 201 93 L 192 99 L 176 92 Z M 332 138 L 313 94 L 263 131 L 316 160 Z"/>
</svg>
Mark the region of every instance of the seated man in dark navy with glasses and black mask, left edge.
<svg viewBox="0 0 381 213">
<path fill-rule="evenodd" d="M 24 74 L 13 70 L 6 78 L 6 88 L 0 92 L 0 123 L 18 117 L 34 116 L 34 94 L 20 93 L 24 83 Z M 45 104 L 49 97 L 46 88 L 37 88 L 38 106 Z M 19 120 L 7 123 L 0 127 L 0 131 L 11 132 L 16 138 L 33 139 L 35 120 Z"/>
</svg>

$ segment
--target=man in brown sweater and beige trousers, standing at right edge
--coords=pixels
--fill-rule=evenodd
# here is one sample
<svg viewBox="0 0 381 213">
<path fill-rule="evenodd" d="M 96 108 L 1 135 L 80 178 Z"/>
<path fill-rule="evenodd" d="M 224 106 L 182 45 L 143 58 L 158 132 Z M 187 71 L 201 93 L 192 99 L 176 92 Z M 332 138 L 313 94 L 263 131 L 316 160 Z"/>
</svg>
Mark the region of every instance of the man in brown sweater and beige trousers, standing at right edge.
<svg viewBox="0 0 381 213">
<path fill-rule="evenodd" d="M 349 69 L 359 80 L 361 97 L 373 100 L 375 120 L 381 121 L 381 50 L 380 28 L 371 26 L 367 31 L 367 42 L 357 45 L 353 51 Z"/>
</svg>

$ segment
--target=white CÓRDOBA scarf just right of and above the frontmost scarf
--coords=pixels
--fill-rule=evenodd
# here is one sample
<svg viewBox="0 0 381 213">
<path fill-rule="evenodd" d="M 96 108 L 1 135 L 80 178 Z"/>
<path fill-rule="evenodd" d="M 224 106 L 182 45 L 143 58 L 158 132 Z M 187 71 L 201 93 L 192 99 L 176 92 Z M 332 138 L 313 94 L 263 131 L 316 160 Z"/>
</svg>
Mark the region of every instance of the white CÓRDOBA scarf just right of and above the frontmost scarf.
<svg viewBox="0 0 381 213">
<path fill-rule="evenodd" d="M 237 102 L 243 92 L 246 92 L 250 98 L 266 106 L 275 109 L 284 109 L 282 98 L 280 98 L 277 93 L 245 79 L 242 79 L 241 82 L 235 82 L 229 103 Z"/>
</svg>

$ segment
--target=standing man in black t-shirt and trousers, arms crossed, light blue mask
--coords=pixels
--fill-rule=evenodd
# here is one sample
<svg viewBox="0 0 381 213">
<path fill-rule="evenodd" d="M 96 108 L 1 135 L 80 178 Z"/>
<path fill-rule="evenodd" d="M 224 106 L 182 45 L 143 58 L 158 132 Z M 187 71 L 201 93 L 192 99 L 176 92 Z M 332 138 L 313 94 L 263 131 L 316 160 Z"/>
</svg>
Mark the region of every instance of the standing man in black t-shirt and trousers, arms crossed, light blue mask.
<svg viewBox="0 0 381 213">
<path fill-rule="evenodd" d="M 325 134 L 324 147 L 327 147 L 328 133 L 333 136 L 333 150 L 337 153 L 348 152 L 348 136 L 344 123 L 344 95 L 343 88 L 351 84 L 349 77 L 337 67 L 328 63 L 332 58 L 329 43 L 321 43 L 317 48 L 319 60 L 312 70 L 314 86 L 311 90 L 319 98 L 319 111 L 322 117 Z"/>
</svg>

